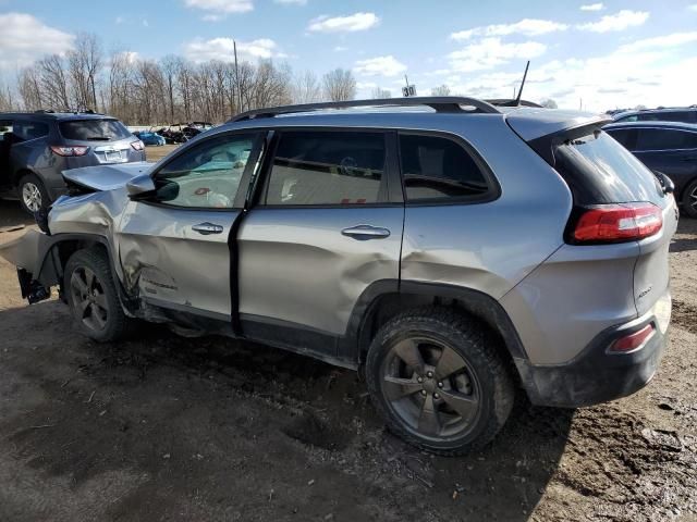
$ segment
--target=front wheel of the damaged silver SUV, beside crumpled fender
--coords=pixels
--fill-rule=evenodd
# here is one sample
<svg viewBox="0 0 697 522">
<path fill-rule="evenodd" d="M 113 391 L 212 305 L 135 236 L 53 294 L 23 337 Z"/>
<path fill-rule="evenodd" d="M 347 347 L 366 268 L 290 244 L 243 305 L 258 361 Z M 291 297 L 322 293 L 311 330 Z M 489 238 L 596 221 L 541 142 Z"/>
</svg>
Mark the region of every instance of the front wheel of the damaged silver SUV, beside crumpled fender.
<svg viewBox="0 0 697 522">
<path fill-rule="evenodd" d="M 78 330 L 93 340 L 109 343 L 127 336 L 134 320 L 126 316 L 102 250 L 78 250 L 65 264 L 63 288 Z"/>
</svg>

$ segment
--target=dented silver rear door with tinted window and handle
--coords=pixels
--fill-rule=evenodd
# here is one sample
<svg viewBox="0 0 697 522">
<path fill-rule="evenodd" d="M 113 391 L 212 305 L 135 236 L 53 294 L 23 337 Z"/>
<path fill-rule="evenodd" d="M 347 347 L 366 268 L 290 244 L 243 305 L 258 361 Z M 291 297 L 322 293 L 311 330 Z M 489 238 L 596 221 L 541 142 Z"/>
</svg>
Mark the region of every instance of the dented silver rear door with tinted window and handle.
<svg viewBox="0 0 697 522">
<path fill-rule="evenodd" d="M 277 132 L 237 239 L 247 335 L 293 345 L 305 332 L 330 353 L 371 284 L 396 289 L 404 207 L 390 196 L 388 142 L 376 130 Z"/>
</svg>

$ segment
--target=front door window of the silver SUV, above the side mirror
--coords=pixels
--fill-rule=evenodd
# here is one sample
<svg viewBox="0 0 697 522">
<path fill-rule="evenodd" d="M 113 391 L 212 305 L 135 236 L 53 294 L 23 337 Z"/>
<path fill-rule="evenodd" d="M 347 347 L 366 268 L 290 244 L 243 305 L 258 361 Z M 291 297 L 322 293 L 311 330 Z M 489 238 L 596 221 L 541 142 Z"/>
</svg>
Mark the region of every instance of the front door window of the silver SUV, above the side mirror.
<svg viewBox="0 0 697 522">
<path fill-rule="evenodd" d="M 230 209 L 256 135 L 206 139 L 167 163 L 155 176 L 155 200 L 175 207 Z"/>
</svg>

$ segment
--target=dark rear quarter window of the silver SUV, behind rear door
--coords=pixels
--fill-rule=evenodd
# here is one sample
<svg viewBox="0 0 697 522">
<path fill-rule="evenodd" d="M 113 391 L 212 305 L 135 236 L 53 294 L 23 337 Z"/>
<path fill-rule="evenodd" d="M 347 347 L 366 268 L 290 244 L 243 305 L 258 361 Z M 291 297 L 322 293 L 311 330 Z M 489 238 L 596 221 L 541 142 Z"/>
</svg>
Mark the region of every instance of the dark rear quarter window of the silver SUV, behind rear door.
<svg viewBox="0 0 697 522">
<path fill-rule="evenodd" d="M 407 201 L 477 199 L 490 192 L 477 162 L 451 139 L 402 134 L 400 156 Z"/>
</svg>

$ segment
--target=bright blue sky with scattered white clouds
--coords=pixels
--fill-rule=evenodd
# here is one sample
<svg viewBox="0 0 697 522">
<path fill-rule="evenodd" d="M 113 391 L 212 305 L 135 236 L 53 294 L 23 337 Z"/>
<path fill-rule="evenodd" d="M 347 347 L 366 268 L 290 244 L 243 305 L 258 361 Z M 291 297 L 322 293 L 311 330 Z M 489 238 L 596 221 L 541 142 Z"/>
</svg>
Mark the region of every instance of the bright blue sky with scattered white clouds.
<svg viewBox="0 0 697 522">
<path fill-rule="evenodd" d="M 697 0 L 0 0 L 5 83 L 78 32 L 144 59 L 288 61 L 321 76 L 354 72 L 358 98 L 510 97 L 530 60 L 524 98 L 604 111 L 697 103 Z"/>
</svg>

